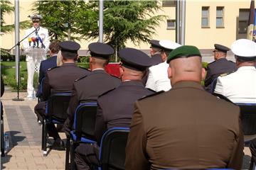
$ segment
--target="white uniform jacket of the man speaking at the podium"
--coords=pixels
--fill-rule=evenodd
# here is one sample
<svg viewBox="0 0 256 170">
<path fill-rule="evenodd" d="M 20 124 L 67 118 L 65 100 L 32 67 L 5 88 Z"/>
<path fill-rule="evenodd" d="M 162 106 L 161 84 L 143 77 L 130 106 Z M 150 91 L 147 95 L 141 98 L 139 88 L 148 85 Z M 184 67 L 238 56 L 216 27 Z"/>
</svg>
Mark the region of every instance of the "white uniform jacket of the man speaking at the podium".
<svg viewBox="0 0 256 170">
<path fill-rule="evenodd" d="M 33 30 L 35 30 L 36 28 L 32 27 L 32 28 L 29 28 L 28 30 L 26 30 L 26 33 L 24 35 L 24 38 L 30 34 L 31 32 L 33 32 Z M 25 49 L 25 51 L 30 48 L 30 47 L 33 47 L 36 45 L 38 45 L 39 48 L 42 48 L 42 43 L 40 42 L 40 40 L 38 40 L 38 42 L 28 42 L 28 39 L 29 38 L 36 38 L 36 37 L 40 37 L 42 42 L 43 42 L 43 45 L 45 45 L 45 53 L 48 51 L 48 47 L 50 45 L 50 40 L 49 40 L 49 35 L 48 35 L 48 29 L 46 28 L 43 28 L 43 27 L 39 27 L 38 28 L 38 34 L 36 35 L 36 32 L 32 33 L 31 35 L 28 36 L 28 38 L 26 38 L 25 40 L 23 40 L 22 42 L 22 45 L 23 45 L 23 48 Z M 38 43 L 38 44 L 37 44 Z M 43 59 L 42 60 L 46 60 L 46 55 L 42 56 Z M 27 55 L 26 57 L 26 61 L 29 61 L 29 60 L 32 60 L 32 56 L 29 56 Z"/>
</svg>

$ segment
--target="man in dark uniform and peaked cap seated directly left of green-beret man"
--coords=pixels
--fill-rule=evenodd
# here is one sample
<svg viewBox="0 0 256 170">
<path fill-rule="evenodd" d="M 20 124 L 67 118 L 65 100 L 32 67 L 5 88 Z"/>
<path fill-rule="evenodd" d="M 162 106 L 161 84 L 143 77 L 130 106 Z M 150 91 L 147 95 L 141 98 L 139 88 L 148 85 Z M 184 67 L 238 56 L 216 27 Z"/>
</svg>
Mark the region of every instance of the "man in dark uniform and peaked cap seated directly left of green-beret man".
<svg viewBox="0 0 256 170">
<path fill-rule="evenodd" d="M 151 66 L 149 56 L 133 48 L 124 48 L 119 50 L 119 57 L 122 62 L 120 67 L 122 83 L 116 89 L 102 94 L 97 100 L 95 137 L 98 145 L 102 135 L 108 129 L 129 127 L 134 102 L 154 93 L 142 84 L 144 72 Z M 98 145 L 80 144 L 75 149 L 75 162 L 78 169 L 90 169 L 91 164 L 99 164 Z"/>
</svg>

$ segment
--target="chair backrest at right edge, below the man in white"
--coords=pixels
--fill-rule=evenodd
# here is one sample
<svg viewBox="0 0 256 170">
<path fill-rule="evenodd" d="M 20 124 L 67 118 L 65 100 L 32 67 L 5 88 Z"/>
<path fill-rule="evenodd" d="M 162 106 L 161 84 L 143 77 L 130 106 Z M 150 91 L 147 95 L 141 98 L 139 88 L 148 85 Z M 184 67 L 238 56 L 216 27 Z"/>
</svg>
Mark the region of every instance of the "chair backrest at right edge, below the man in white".
<svg viewBox="0 0 256 170">
<path fill-rule="evenodd" d="M 244 135 L 256 134 L 256 103 L 235 103 L 240 107 Z"/>
</svg>

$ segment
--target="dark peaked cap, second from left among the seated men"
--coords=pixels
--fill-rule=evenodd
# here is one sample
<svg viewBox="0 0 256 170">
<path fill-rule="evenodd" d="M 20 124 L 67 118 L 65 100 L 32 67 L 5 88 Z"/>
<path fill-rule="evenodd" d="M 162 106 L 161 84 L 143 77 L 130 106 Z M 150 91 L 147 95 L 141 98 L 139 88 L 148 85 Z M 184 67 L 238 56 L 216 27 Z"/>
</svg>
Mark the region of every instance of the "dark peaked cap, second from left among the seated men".
<svg viewBox="0 0 256 170">
<path fill-rule="evenodd" d="M 92 57 L 100 57 L 108 60 L 110 55 L 114 54 L 114 49 L 110 45 L 102 42 L 92 42 L 88 48 Z"/>
</svg>

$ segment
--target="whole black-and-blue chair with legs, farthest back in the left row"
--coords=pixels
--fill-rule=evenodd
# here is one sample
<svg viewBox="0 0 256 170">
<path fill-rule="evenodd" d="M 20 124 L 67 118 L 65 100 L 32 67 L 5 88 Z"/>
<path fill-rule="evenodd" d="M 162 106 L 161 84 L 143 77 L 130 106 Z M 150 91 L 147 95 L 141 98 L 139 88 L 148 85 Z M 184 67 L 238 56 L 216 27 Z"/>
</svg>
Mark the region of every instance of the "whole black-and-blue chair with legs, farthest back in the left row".
<svg viewBox="0 0 256 170">
<path fill-rule="evenodd" d="M 50 96 L 46 102 L 46 116 L 43 118 L 43 128 L 42 128 L 42 149 L 43 156 L 47 155 L 46 142 L 48 139 L 47 135 L 47 124 L 63 124 L 68 118 L 67 110 L 70 101 L 71 92 L 61 92 L 55 93 Z"/>
</svg>

